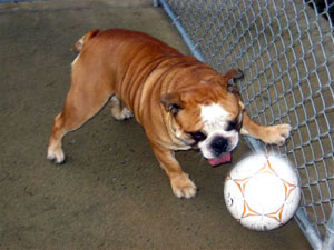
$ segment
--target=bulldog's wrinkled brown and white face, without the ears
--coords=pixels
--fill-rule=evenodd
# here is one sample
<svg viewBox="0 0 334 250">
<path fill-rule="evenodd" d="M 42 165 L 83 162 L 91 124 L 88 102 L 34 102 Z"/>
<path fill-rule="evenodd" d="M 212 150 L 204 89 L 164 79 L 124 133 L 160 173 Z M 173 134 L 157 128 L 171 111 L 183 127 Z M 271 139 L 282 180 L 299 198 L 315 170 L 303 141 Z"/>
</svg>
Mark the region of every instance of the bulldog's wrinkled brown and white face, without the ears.
<svg viewBox="0 0 334 250">
<path fill-rule="evenodd" d="M 222 89 L 219 89 L 223 91 Z M 236 93 L 194 91 L 175 110 L 176 137 L 198 148 L 213 166 L 230 160 L 239 141 L 244 106 Z"/>
</svg>

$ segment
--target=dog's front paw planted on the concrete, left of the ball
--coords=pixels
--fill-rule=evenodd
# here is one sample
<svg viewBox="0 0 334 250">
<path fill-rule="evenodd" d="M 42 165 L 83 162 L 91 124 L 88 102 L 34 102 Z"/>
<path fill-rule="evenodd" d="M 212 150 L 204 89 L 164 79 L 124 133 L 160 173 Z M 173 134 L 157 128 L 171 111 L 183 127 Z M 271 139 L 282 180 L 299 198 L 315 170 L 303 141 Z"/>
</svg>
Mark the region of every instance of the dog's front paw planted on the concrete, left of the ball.
<svg viewBox="0 0 334 250">
<path fill-rule="evenodd" d="M 193 198 L 196 196 L 197 188 L 186 173 L 174 177 L 170 184 L 174 194 L 178 198 Z"/>
</svg>

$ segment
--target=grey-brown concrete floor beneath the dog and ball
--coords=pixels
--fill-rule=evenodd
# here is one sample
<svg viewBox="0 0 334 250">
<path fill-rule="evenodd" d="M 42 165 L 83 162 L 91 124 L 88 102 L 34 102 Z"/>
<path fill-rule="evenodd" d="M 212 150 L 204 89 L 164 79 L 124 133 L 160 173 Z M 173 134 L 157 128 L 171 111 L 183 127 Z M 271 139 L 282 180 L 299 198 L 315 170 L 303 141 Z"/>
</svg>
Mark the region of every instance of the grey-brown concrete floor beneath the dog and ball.
<svg viewBox="0 0 334 250">
<path fill-rule="evenodd" d="M 143 128 L 105 108 L 65 139 L 67 162 L 46 160 L 53 117 L 69 88 L 72 44 L 90 29 L 145 31 L 187 52 L 150 1 L 49 1 L 0 6 L 0 249 L 310 249 L 291 221 L 249 231 L 228 214 L 223 181 L 193 151 L 177 154 L 200 189 L 171 193 Z M 240 144 L 234 162 L 245 156 Z"/>
</svg>

